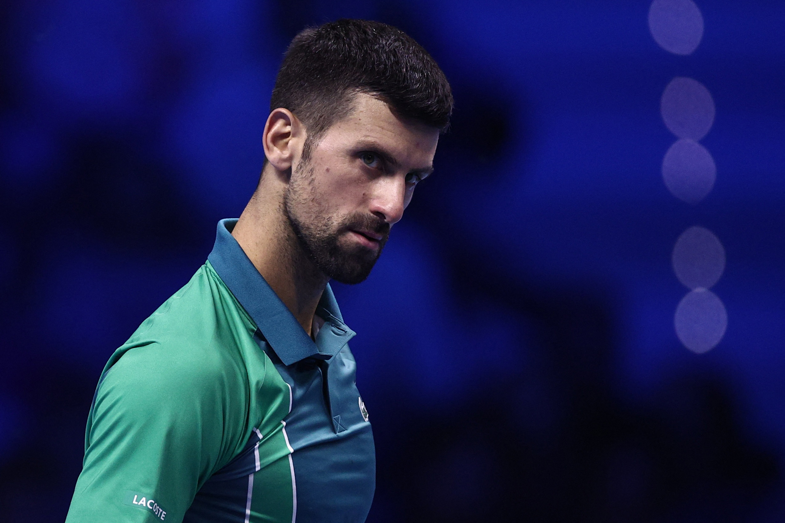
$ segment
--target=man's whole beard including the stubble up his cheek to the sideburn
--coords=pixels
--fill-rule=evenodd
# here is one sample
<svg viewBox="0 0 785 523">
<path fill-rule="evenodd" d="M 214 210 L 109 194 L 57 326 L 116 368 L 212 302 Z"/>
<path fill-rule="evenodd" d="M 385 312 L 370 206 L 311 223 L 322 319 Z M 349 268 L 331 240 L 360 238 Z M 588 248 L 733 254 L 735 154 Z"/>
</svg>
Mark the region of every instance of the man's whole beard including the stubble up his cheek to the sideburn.
<svg viewBox="0 0 785 523">
<path fill-rule="evenodd" d="M 328 278 L 346 284 L 364 281 L 389 236 L 389 223 L 373 214 L 354 212 L 337 218 L 316 194 L 316 174 L 309 162 L 302 162 L 292 173 L 283 199 L 283 211 L 297 238 L 295 248 Z M 349 231 L 381 234 L 377 249 L 353 244 L 345 238 Z M 343 242 L 341 242 L 343 239 Z M 349 245 L 347 245 L 349 243 Z M 341 245 L 343 244 L 343 245 Z"/>
</svg>

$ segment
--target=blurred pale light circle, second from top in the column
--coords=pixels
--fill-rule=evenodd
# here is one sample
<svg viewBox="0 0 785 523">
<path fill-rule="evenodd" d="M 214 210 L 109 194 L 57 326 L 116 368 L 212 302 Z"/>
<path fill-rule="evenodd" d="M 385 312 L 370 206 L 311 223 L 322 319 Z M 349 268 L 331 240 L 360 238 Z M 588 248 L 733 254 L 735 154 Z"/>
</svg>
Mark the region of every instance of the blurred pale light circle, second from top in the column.
<svg viewBox="0 0 785 523">
<path fill-rule="evenodd" d="M 666 86 L 659 111 L 671 133 L 679 138 L 700 140 L 714 123 L 714 99 L 697 80 L 677 76 Z"/>
</svg>

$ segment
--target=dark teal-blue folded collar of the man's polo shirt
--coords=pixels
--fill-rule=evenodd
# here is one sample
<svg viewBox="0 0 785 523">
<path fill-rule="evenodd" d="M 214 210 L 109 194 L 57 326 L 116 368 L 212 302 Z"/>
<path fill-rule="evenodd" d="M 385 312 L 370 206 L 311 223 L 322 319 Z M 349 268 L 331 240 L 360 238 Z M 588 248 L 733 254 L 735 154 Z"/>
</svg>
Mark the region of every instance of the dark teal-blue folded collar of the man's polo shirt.
<svg viewBox="0 0 785 523">
<path fill-rule="evenodd" d="M 324 320 L 324 325 L 314 342 L 232 236 L 235 223 L 236 218 L 218 222 L 213 252 L 207 260 L 250 314 L 283 365 L 305 358 L 328 360 L 338 354 L 355 332 L 343 322 L 330 284 L 325 287 L 316 307 L 316 314 Z"/>
</svg>

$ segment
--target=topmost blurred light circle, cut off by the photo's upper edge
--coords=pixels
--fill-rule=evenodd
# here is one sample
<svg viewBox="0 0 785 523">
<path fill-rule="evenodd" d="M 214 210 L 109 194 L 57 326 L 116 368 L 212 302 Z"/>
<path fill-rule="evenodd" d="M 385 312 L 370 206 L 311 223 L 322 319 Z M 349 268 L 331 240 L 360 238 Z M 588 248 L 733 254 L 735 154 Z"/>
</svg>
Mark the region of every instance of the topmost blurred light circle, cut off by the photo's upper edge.
<svg viewBox="0 0 785 523">
<path fill-rule="evenodd" d="M 669 53 L 688 55 L 703 38 L 703 15 L 692 0 L 654 0 L 648 9 L 648 29 Z"/>
</svg>

